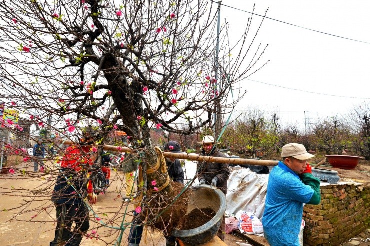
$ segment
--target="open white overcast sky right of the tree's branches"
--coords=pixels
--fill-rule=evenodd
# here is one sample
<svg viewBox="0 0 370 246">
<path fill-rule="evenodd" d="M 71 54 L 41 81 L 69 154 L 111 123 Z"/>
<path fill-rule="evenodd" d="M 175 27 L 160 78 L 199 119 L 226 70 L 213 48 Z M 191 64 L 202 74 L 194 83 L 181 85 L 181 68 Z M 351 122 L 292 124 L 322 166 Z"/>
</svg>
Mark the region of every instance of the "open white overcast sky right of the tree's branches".
<svg viewBox="0 0 370 246">
<path fill-rule="evenodd" d="M 255 105 L 275 111 L 282 121 L 297 122 L 304 128 L 304 111 L 308 111 L 306 115 L 313 122 L 317 117 L 342 115 L 355 105 L 370 102 L 370 1 L 255 3 L 257 14 L 264 15 L 269 8 L 269 18 L 358 41 L 265 19 L 257 43 L 268 44 L 264 57 L 270 62 L 250 76 L 251 80 L 243 82 L 248 92 L 239 110 L 245 105 Z M 221 7 L 222 22 L 224 19 L 229 22 L 232 35 L 240 33 L 251 16 L 241 10 L 251 12 L 254 2 L 223 0 L 222 4 L 240 9 Z M 257 25 L 261 17 L 254 18 Z"/>
</svg>

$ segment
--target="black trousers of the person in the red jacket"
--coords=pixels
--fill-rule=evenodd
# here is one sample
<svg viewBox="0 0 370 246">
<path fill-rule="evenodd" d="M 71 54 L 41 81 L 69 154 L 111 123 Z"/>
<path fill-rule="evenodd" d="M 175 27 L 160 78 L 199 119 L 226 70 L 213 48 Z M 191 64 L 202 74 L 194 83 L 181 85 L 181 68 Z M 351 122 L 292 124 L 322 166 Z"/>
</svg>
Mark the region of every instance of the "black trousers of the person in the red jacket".
<svg viewBox="0 0 370 246">
<path fill-rule="evenodd" d="M 56 229 L 55 238 L 50 246 L 79 246 L 82 236 L 90 227 L 88 208 L 81 204 L 55 204 Z M 72 231 L 72 224 L 75 228 Z"/>
</svg>

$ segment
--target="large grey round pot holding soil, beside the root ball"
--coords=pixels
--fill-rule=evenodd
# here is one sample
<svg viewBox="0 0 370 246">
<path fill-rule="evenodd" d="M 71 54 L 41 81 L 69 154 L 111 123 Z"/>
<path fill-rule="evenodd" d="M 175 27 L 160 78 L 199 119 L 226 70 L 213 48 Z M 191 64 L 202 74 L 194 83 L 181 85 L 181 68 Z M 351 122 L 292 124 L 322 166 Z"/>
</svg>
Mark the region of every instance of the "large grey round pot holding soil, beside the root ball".
<svg viewBox="0 0 370 246">
<path fill-rule="evenodd" d="M 186 214 L 199 208 L 212 208 L 215 216 L 204 225 L 189 230 L 173 230 L 172 235 L 188 244 L 203 244 L 211 240 L 218 232 L 226 211 L 226 196 L 220 189 L 210 185 L 199 185 L 191 191 Z"/>
</svg>

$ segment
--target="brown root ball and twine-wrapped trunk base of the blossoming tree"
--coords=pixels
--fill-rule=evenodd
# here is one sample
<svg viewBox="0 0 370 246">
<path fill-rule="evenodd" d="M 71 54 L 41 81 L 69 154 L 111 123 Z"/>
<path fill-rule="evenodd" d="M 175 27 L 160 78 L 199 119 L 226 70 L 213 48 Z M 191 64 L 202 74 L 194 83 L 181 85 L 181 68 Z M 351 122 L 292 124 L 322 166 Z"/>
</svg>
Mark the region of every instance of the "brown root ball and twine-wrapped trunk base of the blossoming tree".
<svg viewBox="0 0 370 246">
<path fill-rule="evenodd" d="M 148 174 L 148 199 L 141 213 L 144 223 L 156 229 L 162 230 L 164 235 L 170 235 L 171 231 L 179 224 L 186 214 L 190 190 L 184 191 L 180 196 L 184 185 L 169 179 L 165 158 L 159 147 L 155 147 L 158 155 L 155 166 L 147 170 Z M 158 183 L 157 178 L 166 176 Z M 156 185 L 151 181 L 155 180 Z M 170 189 L 168 189 L 168 187 Z M 156 188 L 156 189 L 155 189 Z"/>
</svg>

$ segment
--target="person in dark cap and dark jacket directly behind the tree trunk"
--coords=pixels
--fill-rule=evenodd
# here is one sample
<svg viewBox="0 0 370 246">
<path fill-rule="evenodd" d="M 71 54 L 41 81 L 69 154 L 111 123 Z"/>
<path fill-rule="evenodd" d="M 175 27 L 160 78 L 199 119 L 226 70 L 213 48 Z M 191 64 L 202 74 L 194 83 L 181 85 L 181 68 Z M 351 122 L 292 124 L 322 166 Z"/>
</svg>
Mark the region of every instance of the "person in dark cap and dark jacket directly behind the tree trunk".
<svg viewBox="0 0 370 246">
<path fill-rule="evenodd" d="M 164 146 L 164 151 L 169 151 L 172 153 L 182 153 L 181 146 L 176 141 L 169 141 Z M 180 161 L 176 158 L 169 158 L 166 157 L 166 165 L 168 167 L 167 172 L 170 179 L 174 182 L 178 182 L 183 184 L 184 173 L 181 167 Z M 134 215 L 137 215 L 134 212 Z M 130 233 L 128 235 L 128 246 L 139 246 L 142 236 L 142 231 L 144 225 L 141 224 L 139 217 L 135 217 L 132 221 L 132 227 L 130 229 Z M 135 226 L 137 225 L 137 226 Z M 176 238 L 173 236 L 164 236 L 166 239 L 166 246 L 175 246 L 176 245 Z M 179 244 L 177 243 L 177 246 Z"/>
</svg>

